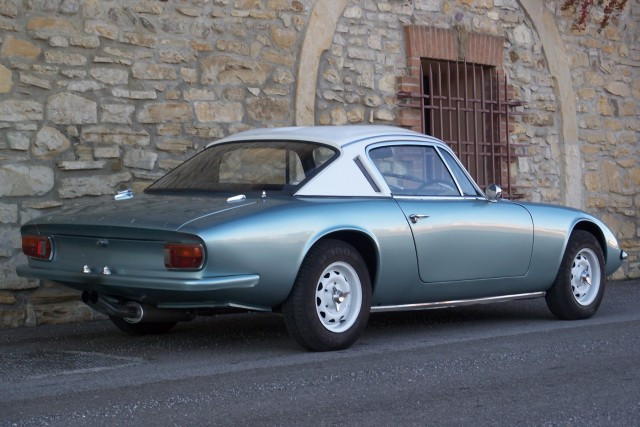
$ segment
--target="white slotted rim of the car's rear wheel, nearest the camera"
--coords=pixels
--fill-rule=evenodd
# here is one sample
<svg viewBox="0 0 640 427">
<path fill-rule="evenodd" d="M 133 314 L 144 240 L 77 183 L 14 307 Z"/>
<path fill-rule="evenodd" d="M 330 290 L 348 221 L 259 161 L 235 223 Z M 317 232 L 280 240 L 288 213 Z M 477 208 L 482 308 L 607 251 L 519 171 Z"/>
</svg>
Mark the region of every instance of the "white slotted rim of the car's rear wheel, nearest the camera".
<svg viewBox="0 0 640 427">
<path fill-rule="evenodd" d="M 315 304 L 327 330 L 340 333 L 353 326 L 362 307 L 362 285 L 353 267 L 338 261 L 325 268 L 316 285 Z"/>
</svg>

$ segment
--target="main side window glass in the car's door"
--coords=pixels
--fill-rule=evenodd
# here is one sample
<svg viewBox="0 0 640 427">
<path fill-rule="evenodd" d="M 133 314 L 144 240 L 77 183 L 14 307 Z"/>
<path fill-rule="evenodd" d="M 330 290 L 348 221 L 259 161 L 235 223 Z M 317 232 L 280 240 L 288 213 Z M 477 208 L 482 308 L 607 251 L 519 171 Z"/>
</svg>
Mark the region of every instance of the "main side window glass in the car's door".
<svg viewBox="0 0 640 427">
<path fill-rule="evenodd" d="M 369 151 L 369 157 L 394 195 L 460 195 L 455 181 L 433 147 L 379 147 Z"/>
</svg>

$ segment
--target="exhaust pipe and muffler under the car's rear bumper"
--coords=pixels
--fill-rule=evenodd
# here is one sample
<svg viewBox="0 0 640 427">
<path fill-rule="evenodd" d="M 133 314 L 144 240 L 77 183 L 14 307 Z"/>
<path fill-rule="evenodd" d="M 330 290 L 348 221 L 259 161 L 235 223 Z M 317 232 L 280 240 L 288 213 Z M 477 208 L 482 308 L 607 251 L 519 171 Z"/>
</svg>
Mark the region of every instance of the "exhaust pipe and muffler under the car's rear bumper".
<svg viewBox="0 0 640 427">
<path fill-rule="evenodd" d="M 162 309 L 149 304 L 127 301 L 124 304 L 112 303 L 97 292 L 82 292 L 82 302 L 107 316 L 122 317 L 129 323 L 140 322 L 186 322 L 196 317 L 194 311 Z"/>
</svg>

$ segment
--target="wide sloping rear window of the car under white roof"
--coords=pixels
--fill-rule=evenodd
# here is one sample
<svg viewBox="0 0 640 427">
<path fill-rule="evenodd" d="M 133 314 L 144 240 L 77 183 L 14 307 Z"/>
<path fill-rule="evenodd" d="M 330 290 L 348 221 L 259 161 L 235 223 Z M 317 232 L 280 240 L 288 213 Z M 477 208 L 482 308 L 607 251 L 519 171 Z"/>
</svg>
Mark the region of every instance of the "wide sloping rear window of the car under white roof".
<svg viewBox="0 0 640 427">
<path fill-rule="evenodd" d="M 325 145 L 298 141 L 213 145 L 146 191 L 294 191 L 337 157 Z"/>
</svg>

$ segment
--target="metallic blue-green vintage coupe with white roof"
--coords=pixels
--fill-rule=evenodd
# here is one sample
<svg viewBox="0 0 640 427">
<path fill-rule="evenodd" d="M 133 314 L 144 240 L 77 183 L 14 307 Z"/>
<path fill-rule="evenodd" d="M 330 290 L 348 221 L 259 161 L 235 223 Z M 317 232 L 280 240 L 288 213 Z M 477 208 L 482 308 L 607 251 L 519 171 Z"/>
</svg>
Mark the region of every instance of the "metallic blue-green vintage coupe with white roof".
<svg viewBox="0 0 640 427">
<path fill-rule="evenodd" d="M 445 143 L 391 126 L 240 132 L 114 199 L 27 222 L 17 273 L 131 334 L 276 312 L 327 351 L 370 313 L 534 297 L 584 319 L 627 256 L 594 216 L 483 192 Z"/>
</svg>

